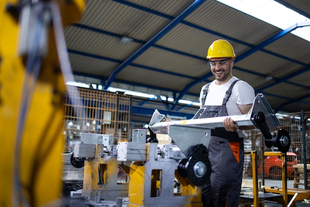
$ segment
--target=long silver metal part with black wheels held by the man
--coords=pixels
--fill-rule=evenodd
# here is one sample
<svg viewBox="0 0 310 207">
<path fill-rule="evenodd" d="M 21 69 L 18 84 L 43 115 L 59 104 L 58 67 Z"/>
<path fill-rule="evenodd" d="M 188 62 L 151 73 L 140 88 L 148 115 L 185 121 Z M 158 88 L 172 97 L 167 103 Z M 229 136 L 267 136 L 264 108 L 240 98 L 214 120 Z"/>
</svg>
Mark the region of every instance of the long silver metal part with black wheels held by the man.
<svg viewBox="0 0 310 207">
<path fill-rule="evenodd" d="M 186 156 L 179 161 L 178 171 L 195 185 L 203 185 L 209 179 L 207 150 L 211 129 L 223 127 L 226 117 L 204 118 L 205 109 L 200 109 L 193 119 L 166 122 L 166 117 L 155 110 L 149 124 L 151 139 L 156 134 L 167 134 Z M 280 126 L 267 100 L 263 94 L 258 94 L 254 104 L 246 115 L 230 116 L 238 126 L 255 126 L 265 138 L 267 147 L 276 146 L 281 152 L 286 153 L 290 148 L 290 136 L 286 130 L 280 129 L 278 134 L 272 136 Z"/>
</svg>

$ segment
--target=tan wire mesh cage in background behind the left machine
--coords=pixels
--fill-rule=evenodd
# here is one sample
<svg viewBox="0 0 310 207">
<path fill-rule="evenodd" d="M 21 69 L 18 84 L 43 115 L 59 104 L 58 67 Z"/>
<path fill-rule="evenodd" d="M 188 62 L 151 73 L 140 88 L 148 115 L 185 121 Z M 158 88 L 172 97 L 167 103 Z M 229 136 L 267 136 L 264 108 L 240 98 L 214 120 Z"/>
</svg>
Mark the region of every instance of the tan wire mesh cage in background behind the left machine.
<svg viewBox="0 0 310 207">
<path fill-rule="evenodd" d="M 80 133 L 113 135 L 114 144 L 128 140 L 131 96 L 72 86 L 64 107 L 64 151 L 73 151 Z"/>
</svg>

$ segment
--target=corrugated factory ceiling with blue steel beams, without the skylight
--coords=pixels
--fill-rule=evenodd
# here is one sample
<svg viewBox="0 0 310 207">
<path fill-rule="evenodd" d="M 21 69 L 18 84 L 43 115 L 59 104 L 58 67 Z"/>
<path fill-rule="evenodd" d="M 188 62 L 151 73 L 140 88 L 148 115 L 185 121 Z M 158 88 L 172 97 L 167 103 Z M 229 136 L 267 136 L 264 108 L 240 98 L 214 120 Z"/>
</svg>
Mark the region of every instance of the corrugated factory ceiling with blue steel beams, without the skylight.
<svg viewBox="0 0 310 207">
<path fill-rule="evenodd" d="M 309 0 L 277 0 L 310 18 Z M 236 53 L 233 75 L 263 93 L 275 112 L 310 111 L 310 42 L 215 0 L 87 0 L 65 29 L 76 81 L 173 97 L 133 98 L 132 119 L 154 109 L 193 116 L 201 87 L 213 80 L 208 46 L 226 39 Z M 92 82 L 93 81 L 93 82 Z"/>
</svg>

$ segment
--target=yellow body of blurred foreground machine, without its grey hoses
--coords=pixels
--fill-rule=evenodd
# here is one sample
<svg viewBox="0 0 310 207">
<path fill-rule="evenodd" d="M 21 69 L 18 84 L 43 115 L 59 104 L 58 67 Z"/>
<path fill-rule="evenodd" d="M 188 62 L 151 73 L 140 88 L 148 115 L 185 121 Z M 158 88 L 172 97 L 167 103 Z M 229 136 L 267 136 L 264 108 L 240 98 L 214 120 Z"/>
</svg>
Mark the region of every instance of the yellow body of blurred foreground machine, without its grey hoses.
<svg viewBox="0 0 310 207">
<path fill-rule="evenodd" d="M 84 0 L 73 0 L 70 4 L 63 0 L 58 1 L 63 14 L 63 25 L 76 22 L 84 9 Z M 18 2 L 0 1 L 0 157 L 5 162 L 0 170 L 0 183 L 5 187 L 0 194 L 0 203 L 2 206 L 11 207 L 20 206 L 24 202 L 37 207 L 57 202 L 62 189 L 61 130 L 65 85 L 59 70 L 51 28 L 49 51 L 42 60 L 33 97 L 29 100 L 20 142 L 17 141 L 16 132 L 21 130 L 17 126 L 21 119 L 20 103 L 26 75 L 26 57 L 17 54 L 20 25 L 13 15 L 6 11 L 6 5 L 16 5 Z M 32 77 L 30 84 L 33 84 L 31 81 Z M 20 152 L 16 153 L 14 150 L 19 144 Z M 20 154 L 20 157 L 17 157 L 19 163 L 14 163 L 16 154 Z"/>
</svg>

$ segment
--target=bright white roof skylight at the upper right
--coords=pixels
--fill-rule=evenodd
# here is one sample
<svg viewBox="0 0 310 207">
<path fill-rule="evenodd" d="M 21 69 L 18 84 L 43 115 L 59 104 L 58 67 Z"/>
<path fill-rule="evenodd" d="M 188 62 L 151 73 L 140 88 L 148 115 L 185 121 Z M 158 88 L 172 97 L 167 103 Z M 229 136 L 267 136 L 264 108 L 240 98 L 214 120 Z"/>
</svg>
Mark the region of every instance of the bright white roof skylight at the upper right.
<svg viewBox="0 0 310 207">
<path fill-rule="evenodd" d="M 280 29 L 300 22 L 309 22 L 310 19 L 298 12 L 287 8 L 286 6 L 274 0 L 217 0 L 262 21 L 272 24 Z M 291 32 L 305 40 L 310 41 L 310 26 L 299 27 Z"/>
</svg>

